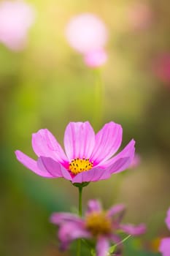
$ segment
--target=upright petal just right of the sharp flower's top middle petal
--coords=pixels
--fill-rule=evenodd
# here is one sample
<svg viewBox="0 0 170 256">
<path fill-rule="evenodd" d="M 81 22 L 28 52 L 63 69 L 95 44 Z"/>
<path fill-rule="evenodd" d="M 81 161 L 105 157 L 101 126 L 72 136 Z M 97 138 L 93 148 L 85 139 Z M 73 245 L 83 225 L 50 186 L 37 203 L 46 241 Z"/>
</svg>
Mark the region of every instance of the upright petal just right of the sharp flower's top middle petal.
<svg viewBox="0 0 170 256">
<path fill-rule="evenodd" d="M 96 134 L 95 147 L 90 159 L 96 165 L 106 161 L 117 151 L 122 142 L 122 127 L 120 124 L 109 122 Z"/>
</svg>

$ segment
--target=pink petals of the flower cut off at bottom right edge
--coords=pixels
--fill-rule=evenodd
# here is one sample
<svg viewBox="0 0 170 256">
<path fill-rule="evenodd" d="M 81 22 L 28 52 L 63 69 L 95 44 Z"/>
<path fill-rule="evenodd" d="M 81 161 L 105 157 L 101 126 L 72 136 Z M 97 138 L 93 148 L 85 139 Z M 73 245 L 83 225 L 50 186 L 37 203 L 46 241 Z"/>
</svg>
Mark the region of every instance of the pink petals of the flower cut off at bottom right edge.
<svg viewBox="0 0 170 256">
<path fill-rule="evenodd" d="M 166 225 L 170 230 L 170 208 L 167 212 Z M 162 253 L 163 256 L 170 256 L 170 237 L 161 239 L 159 251 Z"/>
</svg>

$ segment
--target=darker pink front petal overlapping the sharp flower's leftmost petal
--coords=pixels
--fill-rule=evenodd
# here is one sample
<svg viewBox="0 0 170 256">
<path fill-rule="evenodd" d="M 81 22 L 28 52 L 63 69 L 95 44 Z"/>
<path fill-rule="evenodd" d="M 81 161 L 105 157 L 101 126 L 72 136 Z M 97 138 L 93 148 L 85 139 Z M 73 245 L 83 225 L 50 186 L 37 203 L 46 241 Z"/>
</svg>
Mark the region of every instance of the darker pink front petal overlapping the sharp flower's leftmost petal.
<svg viewBox="0 0 170 256">
<path fill-rule="evenodd" d="M 37 165 L 44 167 L 45 170 L 47 170 L 47 172 L 49 172 L 55 178 L 62 177 L 72 181 L 69 171 L 66 170 L 59 162 L 54 161 L 50 157 L 39 157 Z"/>
</svg>

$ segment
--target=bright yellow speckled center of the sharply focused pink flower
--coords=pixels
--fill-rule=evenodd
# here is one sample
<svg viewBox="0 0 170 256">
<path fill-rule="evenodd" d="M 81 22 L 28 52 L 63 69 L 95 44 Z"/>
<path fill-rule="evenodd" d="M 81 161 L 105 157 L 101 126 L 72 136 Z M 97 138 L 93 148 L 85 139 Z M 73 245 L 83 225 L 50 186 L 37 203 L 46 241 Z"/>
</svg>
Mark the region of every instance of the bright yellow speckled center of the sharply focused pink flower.
<svg viewBox="0 0 170 256">
<path fill-rule="evenodd" d="M 74 173 L 82 173 L 87 170 L 90 170 L 93 167 L 93 162 L 90 162 L 89 159 L 74 158 L 72 162 L 69 163 L 69 170 Z"/>
</svg>

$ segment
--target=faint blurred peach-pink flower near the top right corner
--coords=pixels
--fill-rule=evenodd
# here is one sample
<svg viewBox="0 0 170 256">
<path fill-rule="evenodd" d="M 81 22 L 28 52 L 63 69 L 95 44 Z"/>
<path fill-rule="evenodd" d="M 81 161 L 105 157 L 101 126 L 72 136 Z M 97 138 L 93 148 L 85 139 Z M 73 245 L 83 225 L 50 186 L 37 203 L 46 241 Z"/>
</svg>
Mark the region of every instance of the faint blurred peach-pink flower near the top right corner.
<svg viewBox="0 0 170 256">
<path fill-rule="evenodd" d="M 152 11 L 147 4 L 139 1 L 128 7 L 128 23 L 131 29 L 147 29 L 151 21 Z"/>
</svg>

